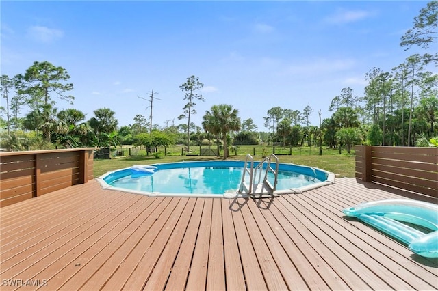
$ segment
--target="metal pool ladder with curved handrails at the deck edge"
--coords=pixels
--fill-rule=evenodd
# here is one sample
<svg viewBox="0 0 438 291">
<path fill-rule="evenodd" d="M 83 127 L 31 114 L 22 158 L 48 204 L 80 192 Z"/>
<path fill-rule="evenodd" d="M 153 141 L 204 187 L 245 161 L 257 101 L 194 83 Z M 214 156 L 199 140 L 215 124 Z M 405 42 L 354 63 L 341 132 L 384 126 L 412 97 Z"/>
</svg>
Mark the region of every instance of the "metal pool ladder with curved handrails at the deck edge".
<svg viewBox="0 0 438 291">
<path fill-rule="evenodd" d="M 275 164 L 275 169 L 272 168 L 272 163 Z M 268 173 L 274 174 L 274 183 L 268 180 Z M 262 175 L 263 174 L 263 175 Z M 257 178 L 258 176 L 258 178 Z M 276 197 L 274 195 L 276 183 L 279 176 L 279 158 L 274 154 L 263 158 L 261 162 L 254 167 L 254 158 L 250 154 L 246 154 L 244 171 L 242 180 L 240 181 L 239 190 L 237 193 L 244 193 L 251 197 Z M 263 180 L 261 180 L 263 177 Z M 248 181 L 249 180 L 249 181 Z"/>
</svg>

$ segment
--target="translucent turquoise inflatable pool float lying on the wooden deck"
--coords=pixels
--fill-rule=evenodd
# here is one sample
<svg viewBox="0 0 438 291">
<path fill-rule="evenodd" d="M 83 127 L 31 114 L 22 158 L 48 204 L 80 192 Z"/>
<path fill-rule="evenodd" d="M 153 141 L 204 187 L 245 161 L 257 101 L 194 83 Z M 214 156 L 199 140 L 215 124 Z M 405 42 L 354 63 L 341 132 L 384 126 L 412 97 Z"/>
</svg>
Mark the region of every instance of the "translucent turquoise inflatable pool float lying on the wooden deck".
<svg viewBox="0 0 438 291">
<path fill-rule="evenodd" d="M 437 204 L 418 200 L 387 199 L 358 204 L 345 208 L 342 212 L 348 217 L 357 217 L 406 243 L 408 248 L 418 255 L 438 258 Z"/>
</svg>

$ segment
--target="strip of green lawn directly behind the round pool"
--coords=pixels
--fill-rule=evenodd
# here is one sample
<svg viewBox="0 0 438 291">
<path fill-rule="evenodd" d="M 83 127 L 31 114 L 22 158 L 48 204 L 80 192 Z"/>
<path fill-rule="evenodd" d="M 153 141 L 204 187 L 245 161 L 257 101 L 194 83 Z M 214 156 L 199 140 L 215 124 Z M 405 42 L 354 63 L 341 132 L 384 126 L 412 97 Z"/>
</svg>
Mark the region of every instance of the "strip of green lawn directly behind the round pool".
<svg viewBox="0 0 438 291">
<path fill-rule="evenodd" d="M 239 147 L 237 149 L 237 155 L 231 152 L 229 160 L 242 160 L 244 161 L 246 153 L 253 155 L 254 146 Z M 262 146 L 256 146 L 256 154 L 254 156 L 255 161 L 261 160 L 261 148 Z M 265 147 L 266 154 L 272 153 L 272 146 Z M 276 153 L 279 148 L 276 148 Z M 281 150 L 281 152 L 286 149 Z M 289 152 L 289 148 L 287 151 Z M 324 149 L 322 156 L 319 154 L 318 148 L 311 148 L 309 154 L 309 148 L 293 148 L 292 156 L 278 155 L 281 163 L 294 163 L 297 165 L 307 165 L 311 167 L 318 167 L 326 171 L 331 171 L 340 177 L 355 177 L 355 156 L 354 153 L 347 154 L 343 150 L 342 154 L 339 154 L 338 150 Z M 148 165 L 155 163 L 175 163 L 182 161 L 209 161 L 209 160 L 221 160 L 222 157 L 216 156 L 160 156 L 155 158 L 153 155 L 149 156 L 125 156 L 120 158 L 112 158 L 110 160 L 94 160 L 93 174 L 94 177 L 99 177 L 105 174 L 107 171 L 114 171 L 116 169 L 123 169 L 131 167 L 132 165 Z"/>
</svg>

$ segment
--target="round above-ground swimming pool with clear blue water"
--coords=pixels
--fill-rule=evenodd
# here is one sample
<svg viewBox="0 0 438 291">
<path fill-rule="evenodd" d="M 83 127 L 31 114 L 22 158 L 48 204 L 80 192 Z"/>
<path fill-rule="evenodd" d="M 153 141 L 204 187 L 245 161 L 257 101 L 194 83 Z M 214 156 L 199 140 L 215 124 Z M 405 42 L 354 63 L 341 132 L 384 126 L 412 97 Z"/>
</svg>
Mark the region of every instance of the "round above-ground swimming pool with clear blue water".
<svg viewBox="0 0 438 291">
<path fill-rule="evenodd" d="M 96 178 L 103 189 L 148 196 L 227 197 L 237 193 L 244 161 L 196 161 L 154 164 L 152 175 L 133 176 L 131 167 L 110 171 Z M 257 165 L 257 162 L 255 162 Z M 268 174 L 268 180 L 274 176 Z M 322 169 L 279 163 L 274 194 L 301 193 L 335 182 L 335 175 Z"/>
</svg>

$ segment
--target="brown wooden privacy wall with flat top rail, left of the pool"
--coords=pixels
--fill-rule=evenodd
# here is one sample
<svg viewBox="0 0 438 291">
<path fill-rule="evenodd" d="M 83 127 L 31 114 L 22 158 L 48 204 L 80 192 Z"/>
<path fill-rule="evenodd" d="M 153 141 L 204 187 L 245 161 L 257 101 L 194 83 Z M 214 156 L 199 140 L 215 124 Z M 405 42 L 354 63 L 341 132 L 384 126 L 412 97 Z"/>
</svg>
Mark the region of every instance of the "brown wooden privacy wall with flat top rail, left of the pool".
<svg viewBox="0 0 438 291">
<path fill-rule="evenodd" d="M 92 180 L 94 148 L 0 153 L 0 207 Z"/>
</svg>

